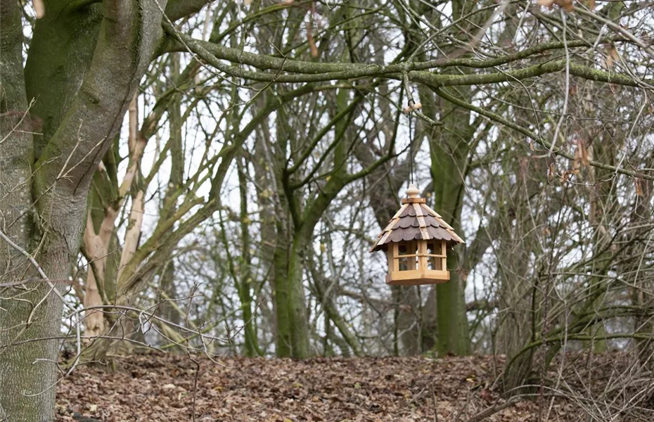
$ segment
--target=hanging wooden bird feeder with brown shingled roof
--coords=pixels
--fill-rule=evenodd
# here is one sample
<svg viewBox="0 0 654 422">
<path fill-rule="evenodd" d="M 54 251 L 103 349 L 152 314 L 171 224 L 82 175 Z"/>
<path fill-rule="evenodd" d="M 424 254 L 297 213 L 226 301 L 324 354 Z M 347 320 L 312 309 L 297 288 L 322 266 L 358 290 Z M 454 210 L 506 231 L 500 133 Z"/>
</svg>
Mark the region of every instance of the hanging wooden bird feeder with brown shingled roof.
<svg viewBox="0 0 654 422">
<path fill-rule="evenodd" d="M 427 206 L 416 185 L 402 198 L 402 207 L 379 234 L 371 252 L 385 250 L 386 283 L 399 286 L 438 284 L 449 280 L 447 250 L 463 243 L 454 229 Z"/>
</svg>

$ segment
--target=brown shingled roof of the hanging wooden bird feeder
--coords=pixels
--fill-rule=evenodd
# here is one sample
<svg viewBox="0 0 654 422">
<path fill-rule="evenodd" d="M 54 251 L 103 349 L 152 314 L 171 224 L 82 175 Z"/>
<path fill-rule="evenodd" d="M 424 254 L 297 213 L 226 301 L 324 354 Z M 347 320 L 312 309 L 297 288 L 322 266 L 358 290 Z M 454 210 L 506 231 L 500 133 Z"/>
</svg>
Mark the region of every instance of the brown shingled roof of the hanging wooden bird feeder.
<svg viewBox="0 0 654 422">
<path fill-rule="evenodd" d="M 419 198 L 417 192 L 415 186 L 409 186 L 406 191 L 409 198 L 402 200 L 402 207 L 379 234 L 371 252 L 386 250 L 388 244 L 393 242 L 436 239 L 446 241 L 448 246 L 463 243 L 463 239 L 454 233 L 454 229 L 428 207 L 425 199 Z"/>
</svg>

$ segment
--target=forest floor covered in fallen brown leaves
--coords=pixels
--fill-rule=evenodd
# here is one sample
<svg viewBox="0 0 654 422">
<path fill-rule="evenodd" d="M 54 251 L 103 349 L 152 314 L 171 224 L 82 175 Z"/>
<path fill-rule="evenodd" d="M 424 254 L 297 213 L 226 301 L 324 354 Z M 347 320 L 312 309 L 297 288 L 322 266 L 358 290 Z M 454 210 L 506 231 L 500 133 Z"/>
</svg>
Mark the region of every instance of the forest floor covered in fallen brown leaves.
<svg viewBox="0 0 654 422">
<path fill-rule="evenodd" d="M 58 385 L 57 421 L 578 420 L 568 402 L 506 402 L 492 388 L 504 364 L 493 357 L 196 362 L 146 354 L 115 371 L 80 366 Z"/>
</svg>

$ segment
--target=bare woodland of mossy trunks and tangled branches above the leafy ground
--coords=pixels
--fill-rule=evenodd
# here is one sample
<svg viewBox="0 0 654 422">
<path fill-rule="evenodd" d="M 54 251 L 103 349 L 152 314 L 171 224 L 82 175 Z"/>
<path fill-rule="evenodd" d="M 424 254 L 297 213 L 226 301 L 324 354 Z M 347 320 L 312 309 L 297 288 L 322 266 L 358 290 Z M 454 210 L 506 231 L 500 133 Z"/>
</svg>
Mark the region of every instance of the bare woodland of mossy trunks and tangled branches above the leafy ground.
<svg viewBox="0 0 654 422">
<path fill-rule="evenodd" d="M 143 348 L 502 355 L 508 395 L 618 350 L 597 420 L 648 407 L 651 7 L 0 0 L 0 416 Z M 368 252 L 411 153 L 438 286 Z"/>
</svg>

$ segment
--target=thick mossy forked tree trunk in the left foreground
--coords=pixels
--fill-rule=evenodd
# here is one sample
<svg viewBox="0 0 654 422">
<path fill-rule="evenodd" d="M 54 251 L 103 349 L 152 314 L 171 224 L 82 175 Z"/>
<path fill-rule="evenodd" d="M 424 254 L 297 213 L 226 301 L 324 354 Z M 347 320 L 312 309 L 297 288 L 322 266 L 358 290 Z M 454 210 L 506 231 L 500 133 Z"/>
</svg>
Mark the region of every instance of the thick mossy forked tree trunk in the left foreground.
<svg viewBox="0 0 654 422">
<path fill-rule="evenodd" d="M 0 222 L 51 280 L 70 276 L 91 177 L 120 128 L 161 32 L 153 1 L 105 1 L 102 13 L 98 5 L 68 5 L 49 2 L 34 31 L 25 79 L 20 6 L 0 0 L 0 177 L 11 189 L 0 190 Z M 11 132 L 27 113 L 27 98 L 35 107 L 24 122 L 38 118 L 44 126 L 34 141 L 27 132 Z M 0 243 L 2 282 L 34 274 L 24 257 Z M 1 414 L 9 421 L 53 421 L 58 342 L 38 339 L 58 337 L 63 302 L 44 282 L 1 296 L 0 379 L 11 385 L 0 388 Z"/>
</svg>

